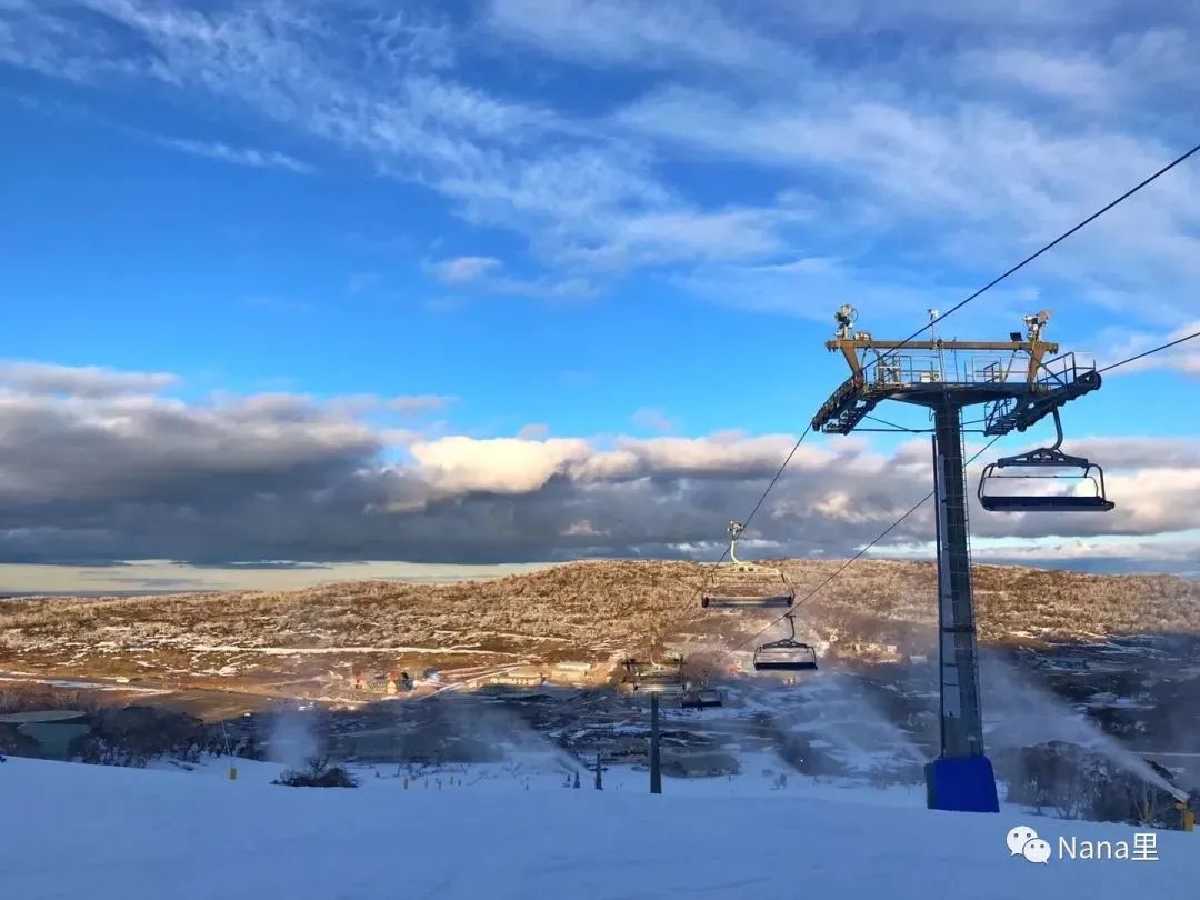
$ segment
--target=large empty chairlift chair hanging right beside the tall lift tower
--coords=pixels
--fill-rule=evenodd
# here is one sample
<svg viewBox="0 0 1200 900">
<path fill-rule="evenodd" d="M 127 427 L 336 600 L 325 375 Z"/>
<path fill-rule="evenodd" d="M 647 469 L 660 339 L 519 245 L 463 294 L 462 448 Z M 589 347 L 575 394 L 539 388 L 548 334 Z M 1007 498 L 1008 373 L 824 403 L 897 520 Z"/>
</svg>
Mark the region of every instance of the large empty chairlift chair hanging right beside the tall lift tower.
<svg viewBox="0 0 1200 900">
<path fill-rule="evenodd" d="M 979 478 L 979 505 L 989 512 L 1106 512 L 1116 506 L 1104 492 L 1104 469 L 1082 456 L 1069 456 L 1062 445 L 1062 421 L 1054 410 L 1057 438 L 1052 446 L 1042 446 L 1016 456 L 1004 456 L 984 467 Z M 1043 474 L 1000 474 L 1007 468 L 1034 469 Z M 1087 494 L 997 494 L 990 493 L 1002 480 L 1078 479 L 1090 482 Z"/>
</svg>

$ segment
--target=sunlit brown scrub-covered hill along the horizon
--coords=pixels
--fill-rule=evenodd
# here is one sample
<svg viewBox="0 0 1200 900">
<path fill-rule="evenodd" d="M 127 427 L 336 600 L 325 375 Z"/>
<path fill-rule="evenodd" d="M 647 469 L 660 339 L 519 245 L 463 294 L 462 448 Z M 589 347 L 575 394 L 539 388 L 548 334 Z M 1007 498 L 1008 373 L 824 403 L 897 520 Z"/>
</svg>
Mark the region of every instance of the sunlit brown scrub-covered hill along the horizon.
<svg viewBox="0 0 1200 900">
<path fill-rule="evenodd" d="M 863 560 L 827 584 L 842 562 L 775 564 L 798 598 L 824 584 L 797 607 L 802 638 L 822 654 L 934 647 L 932 564 Z M 652 638 L 730 648 L 778 616 L 701 610 L 704 574 L 695 563 L 604 560 L 451 584 L 24 599 L 0 605 L 0 670 L 194 682 L 360 662 L 475 670 L 599 661 L 644 653 Z M 1200 634 L 1200 584 L 1183 578 L 980 565 L 974 583 L 983 643 Z"/>
</svg>

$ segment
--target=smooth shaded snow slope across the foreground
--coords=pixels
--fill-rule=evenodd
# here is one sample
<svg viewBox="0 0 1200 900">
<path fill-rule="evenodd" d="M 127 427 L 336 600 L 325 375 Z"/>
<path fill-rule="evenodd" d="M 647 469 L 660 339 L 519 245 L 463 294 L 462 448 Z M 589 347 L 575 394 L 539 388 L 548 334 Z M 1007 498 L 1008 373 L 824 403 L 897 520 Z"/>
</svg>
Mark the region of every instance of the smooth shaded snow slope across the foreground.
<svg viewBox="0 0 1200 900">
<path fill-rule="evenodd" d="M 631 769 L 606 773 L 602 792 L 587 773 L 582 790 L 569 790 L 548 757 L 536 762 L 446 770 L 408 790 L 396 767 L 360 769 L 361 788 L 322 790 L 270 785 L 271 763 L 238 761 L 230 781 L 223 760 L 185 773 L 10 757 L 0 764 L 0 895 L 1128 900 L 1200 883 L 1200 834 L 1154 832 L 1157 860 L 1038 865 L 1009 854 L 1014 826 L 1056 847 L 1060 836 L 1132 844 L 1134 829 L 1016 809 L 932 812 L 914 790 L 794 775 L 775 790 L 751 766 L 733 781 L 666 779 L 662 796 Z"/>
</svg>

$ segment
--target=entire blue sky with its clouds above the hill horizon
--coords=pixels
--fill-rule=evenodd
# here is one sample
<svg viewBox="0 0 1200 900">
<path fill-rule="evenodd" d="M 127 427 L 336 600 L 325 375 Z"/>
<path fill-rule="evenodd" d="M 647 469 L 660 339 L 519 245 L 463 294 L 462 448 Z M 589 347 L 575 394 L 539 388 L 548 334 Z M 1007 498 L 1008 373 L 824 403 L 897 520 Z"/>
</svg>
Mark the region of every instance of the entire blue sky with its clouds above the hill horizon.
<svg viewBox="0 0 1200 900">
<path fill-rule="evenodd" d="M 707 551 L 702 523 L 716 540 L 752 505 L 845 377 L 822 347 L 834 308 L 906 336 L 1195 143 L 1196 16 L 1058 0 L 8 0 L 6 409 L 65 428 L 80 455 L 100 438 L 113 462 L 80 469 L 83 509 L 22 469 L 46 456 L 10 437 L 4 556 Z M 1198 200 L 1187 164 L 941 334 L 1000 338 L 1049 307 L 1046 336 L 1103 365 L 1188 330 Z M 1122 370 L 1068 412 L 1072 439 L 1114 450 L 1127 518 L 991 523 L 980 552 L 1180 568 L 1200 522 L 1160 508 L 1200 492 L 1200 445 L 1164 398 L 1190 391 L 1195 360 Z M 313 458 L 244 445 L 294 446 L 287 428 L 311 421 L 332 430 Z M 212 472 L 173 443 L 206 430 L 227 455 L 205 457 Z M 812 443 L 764 546 L 845 556 L 893 493 L 920 496 L 907 440 Z M 206 479 L 230 469 L 214 499 Z M 236 553 L 214 536 L 304 521 L 329 496 L 336 533 Z M 661 518 L 631 524 L 635 500 Z M 383 518 L 362 524 L 367 508 Z M 511 539 L 487 539 L 497 517 Z M 923 527 L 894 552 L 924 552 Z"/>
</svg>

